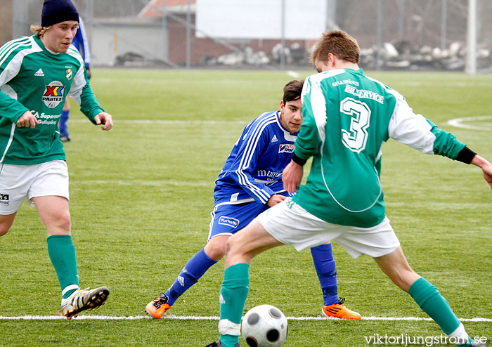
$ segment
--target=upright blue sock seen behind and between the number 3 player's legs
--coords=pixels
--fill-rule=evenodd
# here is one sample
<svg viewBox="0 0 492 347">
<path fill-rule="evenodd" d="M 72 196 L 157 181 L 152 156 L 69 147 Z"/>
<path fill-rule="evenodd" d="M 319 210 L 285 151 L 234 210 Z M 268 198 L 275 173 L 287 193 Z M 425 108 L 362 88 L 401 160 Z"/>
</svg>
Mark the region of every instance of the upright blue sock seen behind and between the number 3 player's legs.
<svg viewBox="0 0 492 347">
<path fill-rule="evenodd" d="M 318 273 L 318 278 L 323 291 L 323 301 L 325 306 L 339 303 L 337 292 L 337 266 L 332 253 L 332 244 L 321 244 L 311 248 L 314 268 Z"/>
</svg>

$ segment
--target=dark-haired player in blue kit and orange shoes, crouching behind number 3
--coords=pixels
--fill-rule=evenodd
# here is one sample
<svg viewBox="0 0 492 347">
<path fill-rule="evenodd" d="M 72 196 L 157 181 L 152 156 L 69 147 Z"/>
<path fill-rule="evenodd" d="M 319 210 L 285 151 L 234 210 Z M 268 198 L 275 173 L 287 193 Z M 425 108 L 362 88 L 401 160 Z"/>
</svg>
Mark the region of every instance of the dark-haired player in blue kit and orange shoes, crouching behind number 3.
<svg viewBox="0 0 492 347">
<path fill-rule="evenodd" d="M 242 131 L 216 180 L 207 244 L 190 258 L 167 292 L 148 303 L 145 312 L 162 317 L 181 294 L 224 256 L 231 235 L 290 196 L 283 189 L 282 171 L 292 158 L 302 123 L 302 85 L 303 81 L 297 80 L 287 83 L 280 110 L 261 114 Z M 323 291 L 323 314 L 361 319 L 361 315 L 342 305 L 344 299 L 337 295 L 331 244 L 313 247 L 311 254 Z"/>
</svg>

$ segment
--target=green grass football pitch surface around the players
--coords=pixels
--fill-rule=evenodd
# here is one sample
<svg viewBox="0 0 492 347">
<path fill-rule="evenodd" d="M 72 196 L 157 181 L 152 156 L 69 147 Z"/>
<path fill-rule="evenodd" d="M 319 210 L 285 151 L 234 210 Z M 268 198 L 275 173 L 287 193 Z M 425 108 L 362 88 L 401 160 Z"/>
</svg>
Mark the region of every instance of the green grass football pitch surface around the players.
<svg viewBox="0 0 492 347">
<path fill-rule="evenodd" d="M 311 73 L 299 72 L 301 78 Z M 446 124 L 491 114 L 491 74 L 368 75 L 492 159 L 492 116 L 467 123 L 477 130 Z M 115 126 L 106 133 L 83 122 L 73 103 L 72 142 L 65 150 L 80 284 L 105 285 L 111 294 L 105 306 L 80 317 L 142 316 L 146 303 L 169 287 L 205 245 L 214 180 L 233 143 L 250 120 L 278 109 L 290 79 L 285 72 L 265 71 L 93 71 L 93 90 Z M 383 153 L 387 216 L 410 265 L 441 290 L 458 317 L 487 318 L 464 324 L 470 336 L 491 339 L 492 191 L 481 171 L 392 140 Z M 347 306 L 364 317 L 426 317 L 371 258 L 354 260 L 336 244 L 334 253 Z M 211 268 L 169 315 L 218 316 L 223 265 Z M 280 247 L 261 254 L 250 276 L 246 309 L 270 303 L 287 317 L 321 317 L 321 289 L 309 250 Z M 59 305 L 46 230 L 35 209 L 23 204 L 11 231 L 0 238 L 0 346 L 205 346 L 218 336 L 213 319 L 6 319 L 52 316 Z M 287 347 L 359 347 L 369 346 L 364 336 L 375 334 L 441 334 L 427 320 L 290 320 L 289 325 Z"/>
</svg>

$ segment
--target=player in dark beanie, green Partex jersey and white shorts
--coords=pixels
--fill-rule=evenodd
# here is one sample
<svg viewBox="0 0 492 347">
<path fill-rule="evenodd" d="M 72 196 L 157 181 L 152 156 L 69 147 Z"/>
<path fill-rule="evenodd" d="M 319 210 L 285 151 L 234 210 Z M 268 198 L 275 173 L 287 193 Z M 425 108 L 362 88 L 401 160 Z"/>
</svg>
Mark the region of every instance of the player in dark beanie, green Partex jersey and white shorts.
<svg viewBox="0 0 492 347">
<path fill-rule="evenodd" d="M 101 129 L 112 117 L 94 97 L 84 61 L 74 46 L 79 14 L 70 0 L 45 0 L 41 27 L 0 48 L 0 235 L 11 228 L 23 200 L 36 207 L 48 231 L 48 254 L 68 319 L 97 308 L 106 287 L 80 289 L 70 234 L 68 172 L 58 122 L 68 95 Z"/>
</svg>

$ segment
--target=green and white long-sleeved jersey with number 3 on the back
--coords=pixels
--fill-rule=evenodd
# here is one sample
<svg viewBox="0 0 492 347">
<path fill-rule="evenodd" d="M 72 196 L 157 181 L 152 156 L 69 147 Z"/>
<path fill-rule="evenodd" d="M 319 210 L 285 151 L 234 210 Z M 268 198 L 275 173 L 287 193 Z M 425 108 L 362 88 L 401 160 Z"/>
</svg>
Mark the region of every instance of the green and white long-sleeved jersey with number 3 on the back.
<svg viewBox="0 0 492 347">
<path fill-rule="evenodd" d="M 465 148 L 362 70 L 331 70 L 306 79 L 302 115 L 294 153 L 313 162 L 293 200 L 329 223 L 370 228 L 382 222 L 380 164 L 388 138 L 451 159 Z"/>
</svg>

